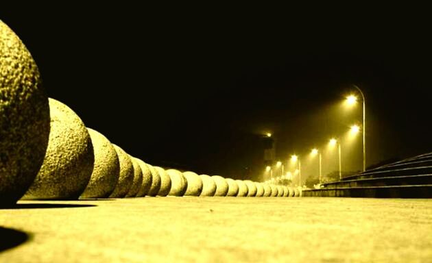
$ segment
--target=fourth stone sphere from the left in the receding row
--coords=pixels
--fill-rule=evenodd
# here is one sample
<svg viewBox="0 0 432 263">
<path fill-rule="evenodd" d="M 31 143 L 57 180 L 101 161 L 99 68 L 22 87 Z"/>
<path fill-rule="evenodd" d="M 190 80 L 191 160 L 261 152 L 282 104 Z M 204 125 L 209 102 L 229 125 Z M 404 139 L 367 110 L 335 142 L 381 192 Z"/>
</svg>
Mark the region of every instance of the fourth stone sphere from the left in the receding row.
<svg viewBox="0 0 432 263">
<path fill-rule="evenodd" d="M 119 181 L 117 181 L 117 186 L 115 186 L 115 189 L 112 191 L 110 197 L 123 198 L 128 194 L 134 181 L 134 166 L 128 153 L 123 151 L 123 149 L 117 145 L 112 144 L 112 146 L 114 147 L 115 151 L 117 151 L 117 155 L 119 156 L 120 175 Z"/>
</svg>

